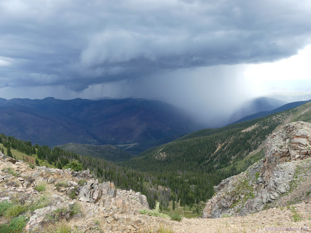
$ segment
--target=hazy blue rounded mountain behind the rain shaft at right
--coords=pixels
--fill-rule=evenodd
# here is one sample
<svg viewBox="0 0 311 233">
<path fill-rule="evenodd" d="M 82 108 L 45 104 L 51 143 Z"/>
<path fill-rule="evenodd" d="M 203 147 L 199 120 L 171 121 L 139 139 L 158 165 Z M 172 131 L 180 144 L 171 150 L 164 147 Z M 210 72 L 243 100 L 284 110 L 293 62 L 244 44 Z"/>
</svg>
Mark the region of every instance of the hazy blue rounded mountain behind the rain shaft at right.
<svg viewBox="0 0 311 233">
<path fill-rule="evenodd" d="M 249 116 L 262 111 L 271 111 L 287 102 L 269 97 L 259 97 L 243 103 L 230 117 L 229 122 L 235 122 L 244 116 Z"/>
</svg>

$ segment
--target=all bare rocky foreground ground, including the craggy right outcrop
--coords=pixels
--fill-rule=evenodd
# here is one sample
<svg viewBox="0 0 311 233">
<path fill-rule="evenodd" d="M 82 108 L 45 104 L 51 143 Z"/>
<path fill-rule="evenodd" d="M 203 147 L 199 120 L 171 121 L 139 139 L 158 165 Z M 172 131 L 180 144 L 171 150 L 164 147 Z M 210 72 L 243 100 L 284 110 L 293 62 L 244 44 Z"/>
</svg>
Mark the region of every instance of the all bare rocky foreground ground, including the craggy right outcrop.
<svg viewBox="0 0 311 233">
<path fill-rule="evenodd" d="M 215 187 L 205 216 L 218 218 L 142 215 L 138 210 L 149 206 L 139 192 L 99 183 L 87 170 L 31 168 L 1 153 L 0 202 L 36 206 L 26 213 L 25 232 L 34 233 L 61 224 L 72 233 L 156 233 L 160 227 L 167 233 L 311 232 L 309 126 L 287 125 L 267 140 L 266 159 Z M 1 223 L 9 224 L 8 216 L 0 216 Z"/>
</svg>

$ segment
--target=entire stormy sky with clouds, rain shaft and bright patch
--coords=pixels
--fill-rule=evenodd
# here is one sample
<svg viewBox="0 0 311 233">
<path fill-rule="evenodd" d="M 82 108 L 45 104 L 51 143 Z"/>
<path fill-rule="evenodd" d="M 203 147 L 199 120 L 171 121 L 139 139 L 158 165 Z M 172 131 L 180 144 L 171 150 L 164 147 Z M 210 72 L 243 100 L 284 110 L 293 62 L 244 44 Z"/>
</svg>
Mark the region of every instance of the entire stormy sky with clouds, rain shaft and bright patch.
<svg viewBox="0 0 311 233">
<path fill-rule="evenodd" d="M 147 98 L 201 120 L 311 93 L 310 0 L 0 0 L 0 97 Z"/>
</svg>

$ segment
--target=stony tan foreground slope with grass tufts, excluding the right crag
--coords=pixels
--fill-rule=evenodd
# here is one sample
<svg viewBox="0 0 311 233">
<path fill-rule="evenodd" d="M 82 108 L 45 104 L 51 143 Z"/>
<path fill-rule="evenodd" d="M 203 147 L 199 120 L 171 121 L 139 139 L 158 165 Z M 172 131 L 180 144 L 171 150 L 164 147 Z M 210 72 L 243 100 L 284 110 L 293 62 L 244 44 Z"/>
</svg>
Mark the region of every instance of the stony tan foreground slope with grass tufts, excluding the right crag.
<svg viewBox="0 0 311 233">
<path fill-rule="evenodd" d="M 143 195 L 117 189 L 110 182 L 98 183 L 89 171 L 42 166 L 32 169 L 25 163 L 12 162 L 0 152 L 3 233 L 262 233 L 277 227 L 291 232 L 310 230 L 310 195 L 299 204 L 248 216 L 182 218 L 177 222 L 140 214 L 140 209 L 148 208 Z"/>
</svg>

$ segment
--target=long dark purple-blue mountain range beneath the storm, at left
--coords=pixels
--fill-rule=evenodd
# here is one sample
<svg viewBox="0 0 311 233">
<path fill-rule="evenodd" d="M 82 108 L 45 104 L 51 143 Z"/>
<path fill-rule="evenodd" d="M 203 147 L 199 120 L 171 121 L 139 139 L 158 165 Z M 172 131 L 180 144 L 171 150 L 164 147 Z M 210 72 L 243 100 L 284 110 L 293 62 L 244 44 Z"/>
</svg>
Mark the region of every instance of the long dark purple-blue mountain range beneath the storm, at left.
<svg viewBox="0 0 311 233">
<path fill-rule="evenodd" d="M 1 133 L 39 145 L 149 142 L 150 148 L 152 142 L 200 127 L 182 110 L 155 100 L 0 101 Z"/>
</svg>

